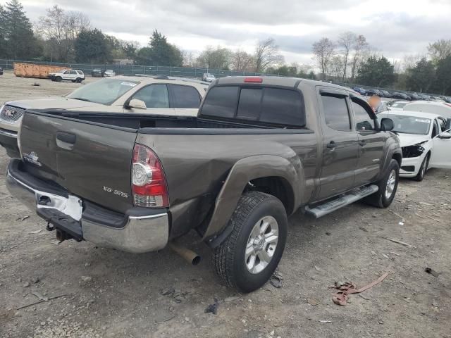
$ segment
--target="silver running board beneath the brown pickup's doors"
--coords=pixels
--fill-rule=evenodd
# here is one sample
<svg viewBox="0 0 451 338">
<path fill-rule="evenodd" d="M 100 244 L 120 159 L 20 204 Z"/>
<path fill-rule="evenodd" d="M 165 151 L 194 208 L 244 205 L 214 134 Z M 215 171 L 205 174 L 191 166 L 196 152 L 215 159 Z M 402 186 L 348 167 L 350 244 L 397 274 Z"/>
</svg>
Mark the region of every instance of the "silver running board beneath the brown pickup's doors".
<svg viewBox="0 0 451 338">
<path fill-rule="evenodd" d="M 323 215 L 327 215 L 328 213 L 332 213 L 333 211 L 342 208 L 343 206 L 347 206 L 355 201 L 359 201 L 359 199 L 363 199 L 366 196 L 374 194 L 378 191 L 378 189 L 379 187 L 375 184 L 371 184 L 368 187 L 354 189 L 352 192 L 342 195 L 337 199 L 327 201 L 324 204 L 319 204 L 315 208 L 309 208 L 306 206 L 305 211 L 309 215 L 313 215 L 315 218 L 320 218 L 323 217 Z"/>
</svg>

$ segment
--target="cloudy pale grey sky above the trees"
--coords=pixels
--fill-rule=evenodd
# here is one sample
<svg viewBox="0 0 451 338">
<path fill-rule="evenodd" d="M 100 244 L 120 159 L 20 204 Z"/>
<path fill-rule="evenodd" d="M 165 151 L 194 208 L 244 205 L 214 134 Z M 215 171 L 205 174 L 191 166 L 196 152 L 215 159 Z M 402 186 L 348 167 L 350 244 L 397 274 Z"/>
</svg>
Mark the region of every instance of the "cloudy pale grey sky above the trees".
<svg viewBox="0 0 451 338">
<path fill-rule="evenodd" d="M 0 0 L 0 4 L 7 1 Z M 366 37 L 391 60 L 426 54 L 437 39 L 451 39 L 451 0 L 23 0 L 34 23 L 58 4 L 82 11 L 92 26 L 145 46 L 154 29 L 181 49 L 199 54 L 206 46 L 254 51 L 276 39 L 288 63 L 313 64 L 311 45 L 341 32 Z"/>
</svg>

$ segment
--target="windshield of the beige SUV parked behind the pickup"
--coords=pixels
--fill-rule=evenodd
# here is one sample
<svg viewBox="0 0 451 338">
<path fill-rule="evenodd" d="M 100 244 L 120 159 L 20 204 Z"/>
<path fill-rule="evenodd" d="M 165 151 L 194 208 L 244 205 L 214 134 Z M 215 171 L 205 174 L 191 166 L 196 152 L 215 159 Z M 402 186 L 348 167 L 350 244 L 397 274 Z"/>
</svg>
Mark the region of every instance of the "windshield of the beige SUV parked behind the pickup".
<svg viewBox="0 0 451 338">
<path fill-rule="evenodd" d="M 135 87 L 137 81 L 125 81 L 119 79 L 104 79 L 86 84 L 74 92 L 68 94 L 68 98 L 95 102 L 96 104 L 110 105 L 130 89 Z"/>
</svg>

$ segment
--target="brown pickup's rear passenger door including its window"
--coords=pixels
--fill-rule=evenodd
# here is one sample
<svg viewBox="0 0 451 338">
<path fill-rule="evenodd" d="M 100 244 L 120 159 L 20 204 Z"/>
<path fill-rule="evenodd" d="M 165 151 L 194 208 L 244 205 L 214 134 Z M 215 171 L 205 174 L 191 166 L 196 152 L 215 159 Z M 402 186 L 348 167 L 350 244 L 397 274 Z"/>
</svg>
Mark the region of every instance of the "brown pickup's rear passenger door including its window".
<svg viewBox="0 0 451 338">
<path fill-rule="evenodd" d="M 359 140 L 352 127 L 347 93 L 320 89 L 323 114 L 323 163 L 318 200 L 340 194 L 354 187 Z"/>
</svg>

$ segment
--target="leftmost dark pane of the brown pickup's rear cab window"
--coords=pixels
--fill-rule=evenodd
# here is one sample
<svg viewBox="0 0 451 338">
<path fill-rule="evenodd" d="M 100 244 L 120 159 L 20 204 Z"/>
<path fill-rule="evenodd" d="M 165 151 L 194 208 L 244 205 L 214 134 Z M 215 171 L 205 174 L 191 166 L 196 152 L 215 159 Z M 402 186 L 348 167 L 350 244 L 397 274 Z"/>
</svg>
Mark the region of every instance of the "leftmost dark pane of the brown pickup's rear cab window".
<svg viewBox="0 0 451 338">
<path fill-rule="evenodd" d="M 202 115 L 217 118 L 233 118 L 238 104 L 238 90 L 240 87 L 213 87 L 206 93 L 202 105 Z"/>
</svg>

